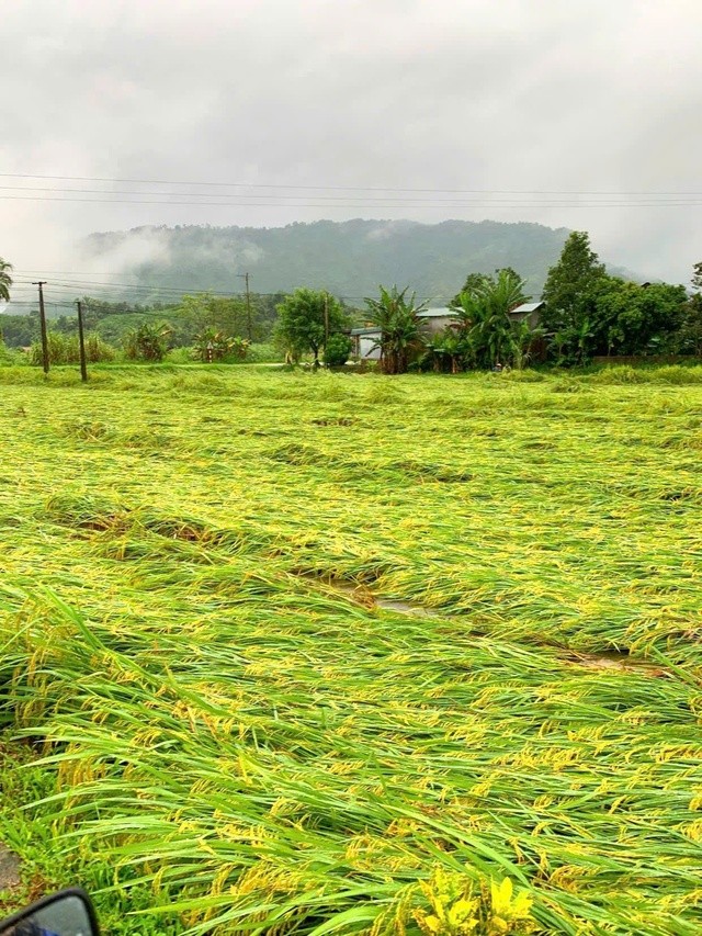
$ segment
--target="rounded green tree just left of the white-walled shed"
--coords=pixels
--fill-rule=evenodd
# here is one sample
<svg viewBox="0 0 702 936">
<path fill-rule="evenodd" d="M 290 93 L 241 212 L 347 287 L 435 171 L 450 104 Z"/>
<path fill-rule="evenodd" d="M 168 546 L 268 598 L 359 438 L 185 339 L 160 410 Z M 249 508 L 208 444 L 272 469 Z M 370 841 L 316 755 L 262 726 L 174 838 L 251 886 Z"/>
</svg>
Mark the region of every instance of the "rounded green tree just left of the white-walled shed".
<svg viewBox="0 0 702 936">
<path fill-rule="evenodd" d="M 312 351 L 315 365 L 327 335 L 347 327 L 347 315 L 338 298 L 325 290 L 298 289 L 278 306 L 276 337 L 291 357 Z"/>
</svg>

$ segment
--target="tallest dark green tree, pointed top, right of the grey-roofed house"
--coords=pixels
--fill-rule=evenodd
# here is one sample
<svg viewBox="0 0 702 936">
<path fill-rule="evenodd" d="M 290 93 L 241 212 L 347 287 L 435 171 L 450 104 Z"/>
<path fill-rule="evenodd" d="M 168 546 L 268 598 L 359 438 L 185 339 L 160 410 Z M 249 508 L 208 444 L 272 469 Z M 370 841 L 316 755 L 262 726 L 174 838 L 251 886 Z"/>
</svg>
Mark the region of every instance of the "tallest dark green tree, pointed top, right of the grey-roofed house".
<svg viewBox="0 0 702 936">
<path fill-rule="evenodd" d="M 604 264 L 590 247 L 585 230 L 574 230 L 566 240 L 561 259 L 548 270 L 542 298 L 546 304 L 542 324 L 548 331 L 579 329 L 591 317 L 592 293 Z"/>
</svg>

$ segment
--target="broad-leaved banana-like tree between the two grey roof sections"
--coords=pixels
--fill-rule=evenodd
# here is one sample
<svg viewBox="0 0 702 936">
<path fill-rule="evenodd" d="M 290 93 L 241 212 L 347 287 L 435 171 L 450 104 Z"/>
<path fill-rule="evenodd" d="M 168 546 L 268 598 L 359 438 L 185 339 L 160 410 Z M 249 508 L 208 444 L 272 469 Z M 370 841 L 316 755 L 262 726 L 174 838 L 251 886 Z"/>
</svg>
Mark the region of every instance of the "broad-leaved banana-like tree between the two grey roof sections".
<svg viewBox="0 0 702 936">
<path fill-rule="evenodd" d="M 497 361 L 514 362 L 518 351 L 521 361 L 524 329 L 509 313 L 526 298 L 524 281 L 509 268 L 460 294 L 456 312 L 468 365 L 491 368 Z"/>
</svg>

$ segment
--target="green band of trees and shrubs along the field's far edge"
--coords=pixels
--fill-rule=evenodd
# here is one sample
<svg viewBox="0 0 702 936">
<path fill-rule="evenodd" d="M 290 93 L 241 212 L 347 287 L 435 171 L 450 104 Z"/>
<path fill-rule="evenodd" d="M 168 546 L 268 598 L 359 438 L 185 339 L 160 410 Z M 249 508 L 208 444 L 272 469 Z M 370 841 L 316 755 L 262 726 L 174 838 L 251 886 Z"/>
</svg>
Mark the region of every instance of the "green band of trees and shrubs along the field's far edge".
<svg viewBox="0 0 702 936">
<path fill-rule="evenodd" d="M 5 281 L 9 287 L 8 275 Z M 95 360 L 124 354 L 156 361 L 173 349 L 188 349 L 183 353 L 202 361 L 242 360 L 250 359 L 252 345 L 275 342 L 279 360 L 309 354 L 315 362 L 343 363 L 352 350 L 350 329 L 364 324 L 373 326 L 364 340 L 374 342 L 372 351 L 384 371 L 456 372 L 545 361 L 584 365 L 602 356 L 700 357 L 702 262 L 695 264 L 691 283 L 688 292 L 683 285 L 613 275 L 591 249 L 587 233 L 574 232 L 548 270 L 537 322 L 514 314 L 530 294 L 521 271 L 511 267 L 494 274 L 469 272 L 450 302 L 452 314 L 443 316 L 450 324 L 439 335 L 427 332 L 421 317 L 426 304 L 409 295 L 408 287 L 396 286 L 381 286 L 380 298 L 365 300 L 362 311 L 326 290 L 307 287 L 248 297 L 197 293 L 150 305 L 84 296 L 82 308 Z M 72 360 L 76 316 L 53 318 L 50 332 L 52 358 Z M 0 337 L 7 348 L 35 346 L 38 312 L 0 316 Z"/>
</svg>

